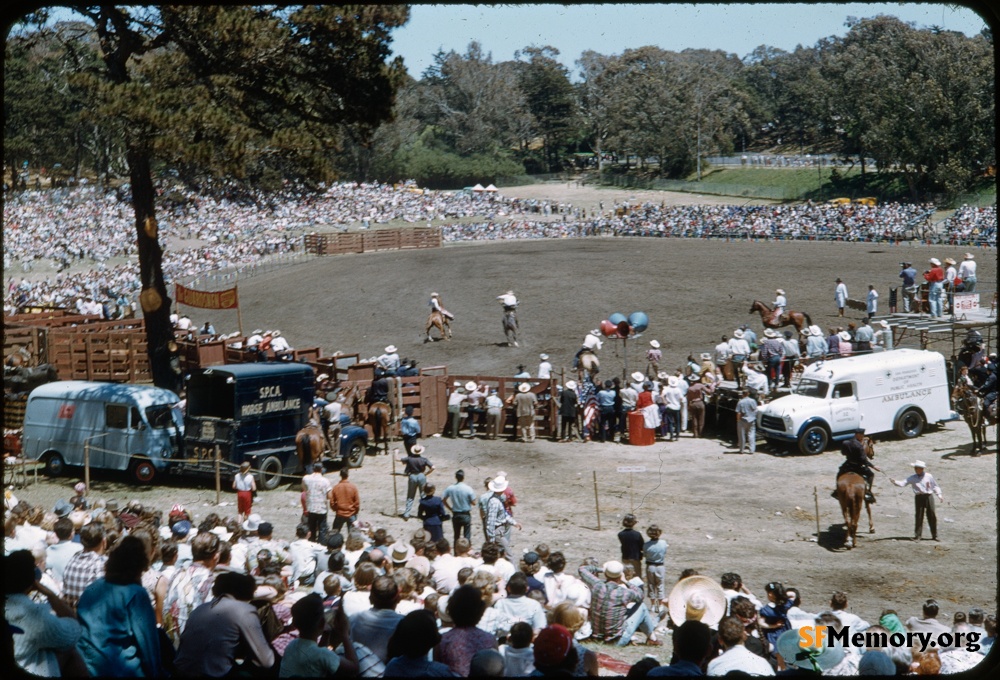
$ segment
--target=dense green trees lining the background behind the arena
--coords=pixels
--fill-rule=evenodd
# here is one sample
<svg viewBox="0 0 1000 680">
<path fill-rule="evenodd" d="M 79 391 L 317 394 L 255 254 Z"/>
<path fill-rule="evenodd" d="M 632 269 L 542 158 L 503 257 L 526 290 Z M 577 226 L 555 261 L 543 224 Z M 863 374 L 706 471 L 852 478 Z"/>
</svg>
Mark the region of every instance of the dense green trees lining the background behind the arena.
<svg viewBox="0 0 1000 680">
<path fill-rule="evenodd" d="M 708 155 L 778 147 L 896 173 L 912 199 L 923 200 L 973 189 L 996 163 L 988 32 L 966 37 L 880 16 L 849 19 L 843 37 L 792 52 L 761 46 L 740 59 L 652 46 L 588 51 L 573 72 L 552 47 L 494 62 L 472 43 L 463 54 L 436 54 L 419 79 L 389 64 L 386 33 L 379 50 L 361 53 L 369 66 L 387 64 L 389 77 L 371 81 L 381 89 L 369 91 L 358 79 L 319 101 L 310 84 L 343 77 L 351 60 L 313 63 L 309 77 L 296 78 L 319 55 L 276 53 L 280 43 L 266 28 L 273 13 L 226 16 L 213 29 L 225 36 L 218 45 L 196 34 L 221 19 L 202 16 L 127 65 L 155 88 L 140 122 L 171 131 L 155 135 L 154 167 L 188 181 L 207 172 L 264 186 L 338 177 L 413 178 L 445 188 L 599 158 L 614 159 L 617 170 L 631 161 L 684 178 Z M 405 20 L 395 16 L 383 30 Z M 297 21 L 310 19 L 300 13 Z M 60 164 L 66 175 L 127 176 L 123 126 L 135 121 L 98 115 L 88 74 L 100 67 L 104 43 L 94 29 L 93 22 L 64 23 L 8 40 L 4 160 L 11 175 L 29 160 Z M 330 49 L 342 56 L 355 48 Z"/>
</svg>

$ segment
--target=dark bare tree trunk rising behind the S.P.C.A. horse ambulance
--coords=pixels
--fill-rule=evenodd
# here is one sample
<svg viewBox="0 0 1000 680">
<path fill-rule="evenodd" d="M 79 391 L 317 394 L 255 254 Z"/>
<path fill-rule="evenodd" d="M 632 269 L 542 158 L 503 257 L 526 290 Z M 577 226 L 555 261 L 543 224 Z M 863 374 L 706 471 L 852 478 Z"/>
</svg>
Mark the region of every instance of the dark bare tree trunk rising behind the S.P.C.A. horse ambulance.
<svg viewBox="0 0 1000 680">
<path fill-rule="evenodd" d="M 177 392 L 180 373 L 174 370 L 174 332 L 170 323 L 171 299 L 163 280 L 163 249 L 157 238 L 155 191 L 149 166 L 149 152 L 130 147 L 127 151 L 135 210 L 136 247 L 139 251 L 139 302 L 146 324 L 146 347 L 153 384 Z"/>
</svg>

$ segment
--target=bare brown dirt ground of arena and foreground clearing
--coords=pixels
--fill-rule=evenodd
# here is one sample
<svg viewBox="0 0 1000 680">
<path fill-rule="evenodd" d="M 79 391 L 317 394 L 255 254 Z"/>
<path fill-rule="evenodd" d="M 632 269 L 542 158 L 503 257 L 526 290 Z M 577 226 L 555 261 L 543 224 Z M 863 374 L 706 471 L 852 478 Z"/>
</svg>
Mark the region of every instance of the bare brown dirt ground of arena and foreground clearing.
<svg viewBox="0 0 1000 680">
<path fill-rule="evenodd" d="M 564 200 L 552 191 L 547 195 Z M 591 189 L 587 196 L 595 206 L 597 200 L 606 205 L 614 201 L 611 192 Z M 655 196 L 660 200 L 662 194 Z M 691 202 L 690 196 L 685 198 Z M 885 311 L 901 260 L 922 269 L 929 257 L 960 260 L 964 252 L 911 245 L 638 238 L 467 244 L 317 259 L 242 281 L 240 298 L 245 329 L 280 328 L 294 346 L 373 356 L 395 344 L 401 356 L 417 359 L 421 367 L 444 365 L 452 373 L 480 375 L 513 375 L 518 364 L 534 374 L 540 352 L 551 355 L 557 371 L 568 370 L 584 335 L 601 320 L 614 312 L 646 312 L 649 329 L 629 343 L 627 357 L 622 343 L 605 343 L 602 375 L 612 376 L 621 374 L 626 358 L 629 371 L 641 369 L 646 343 L 653 338 L 663 343 L 664 365 L 673 368 L 691 352 L 710 350 L 740 323 L 750 322 L 759 331 L 759 320 L 747 313 L 750 304 L 754 299 L 770 302 L 779 287 L 787 291 L 789 307 L 807 312 L 813 323 L 824 329 L 846 325 L 860 313 L 849 313 L 843 321 L 835 318 L 836 277 L 844 279 L 852 298 L 863 298 L 867 285 L 874 284 L 882 294 L 880 311 Z M 992 295 L 995 250 L 975 253 L 981 288 Z M 495 300 L 509 288 L 521 301 L 519 348 L 504 346 Z M 457 317 L 450 342 L 423 341 L 432 291 L 441 294 Z M 192 319 L 200 325 L 205 317 L 192 314 Z M 235 318 L 212 319 L 220 332 L 235 329 Z M 880 474 L 874 488 L 879 499 L 876 533 L 859 534 L 860 545 L 853 551 L 841 547 L 839 507 L 830 497 L 841 461 L 833 450 L 813 457 L 772 450 L 740 456 L 729 442 L 689 436 L 649 447 L 437 437 L 425 443 L 436 466 L 431 479 L 439 490 L 451 483 L 458 468 L 474 487 L 499 470 L 509 474 L 519 500 L 515 514 L 524 527 L 515 535 L 518 552 L 544 542 L 566 553 L 573 568 L 587 556 L 602 562 L 617 558 L 615 534 L 622 516 L 634 509 L 639 528 L 655 522 L 665 530 L 670 582 L 687 567 L 714 578 L 736 571 L 759 597 L 768 581 L 794 584 L 802 593 L 802 607 L 814 612 L 827 607 L 834 590 L 844 590 L 850 609 L 868 621 L 876 621 L 883 609 L 895 609 L 904 619 L 919 614 L 921 602 L 935 597 L 942 603 L 940 618 L 950 621 L 958 610 L 980 606 L 995 611 L 997 606 L 995 431 L 989 440 L 990 454 L 971 457 L 971 439 L 961 422 L 932 428 L 909 442 L 877 439 L 876 463 L 888 476 L 905 478 L 913 459 L 927 461 L 944 490 L 945 501 L 938 505 L 941 542 L 908 540 L 913 494 L 891 486 L 887 475 Z M 617 472 L 622 465 L 645 466 L 646 472 Z M 405 540 L 419 524 L 395 516 L 402 509 L 406 482 L 390 476 L 392 470 L 387 457 L 369 457 L 352 479 L 361 489 L 362 519 Z M 74 481 L 46 480 L 17 493 L 51 505 L 70 495 Z M 220 509 L 214 507 L 210 483 L 172 484 L 177 486 L 140 489 L 102 476 L 94 491 L 164 509 L 180 502 L 196 517 L 235 513 L 232 493 L 224 494 L 227 505 Z M 299 517 L 298 493 L 291 488 L 264 493 L 257 510 L 280 535 L 291 536 Z M 924 534 L 929 537 L 926 529 Z M 450 538 L 450 532 L 446 535 Z M 482 531 L 474 530 L 474 542 L 481 540 Z M 646 651 L 595 647 L 631 661 Z M 661 662 L 669 658 L 669 650 L 669 644 L 658 650 Z"/>
</svg>

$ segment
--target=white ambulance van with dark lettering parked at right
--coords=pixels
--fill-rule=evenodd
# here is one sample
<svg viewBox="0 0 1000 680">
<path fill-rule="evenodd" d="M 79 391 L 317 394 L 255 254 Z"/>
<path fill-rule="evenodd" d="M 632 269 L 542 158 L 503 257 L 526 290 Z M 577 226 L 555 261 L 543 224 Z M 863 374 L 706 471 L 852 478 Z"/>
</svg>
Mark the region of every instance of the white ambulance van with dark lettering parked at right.
<svg viewBox="0 0 1000 680">
<path fill-rule="evenodd" d="M 819 361 L 806 366 L 792 394 L 757 412 L 766 438 L 822 453 L 863 427 L 866 434 L 920 436 L 928 423 L 956 420 L 948 373 L 938 352 L 897 349 Z"/>
</svg>

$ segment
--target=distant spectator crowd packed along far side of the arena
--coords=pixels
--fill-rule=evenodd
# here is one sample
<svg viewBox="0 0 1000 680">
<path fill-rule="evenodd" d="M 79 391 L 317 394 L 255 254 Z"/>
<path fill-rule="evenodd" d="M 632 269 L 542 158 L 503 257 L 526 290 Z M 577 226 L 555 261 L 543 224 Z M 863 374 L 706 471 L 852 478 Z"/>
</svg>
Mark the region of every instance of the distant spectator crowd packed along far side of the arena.
<svg viewBox="0 0 1000 680">
<path fill-rule="evenodd" d="M 8 311 L 25 305 L 103 302 L 134 306 L 138 264 L 128 188 L 86 185 L 8 191 L 4 200 L 4 292 Z M 890 203 L 787 206 L 666 206 L 616 202 L 591 211 L 495 192 L 443 192 L 401 185 L 338 183 L 319 192 L 289 186 L 247 190 L 230 182 L 195 189 L 164 185 L 158 221 L 168 285 L 301 252 L 302 234 L 330 226 L 369 228 L 392 221 L 443 224 L 447 242 L 588 236 L 901 241 L 996 245 L 996 207 L 963 207 L 930 231 L 930 205 Z M 462 218 L 463 223 L 454 220 Z M 48 263 L 56 274 L 29 274 Z M 119 305 L 121 307 L 121 305 Z"/>
</svg>

